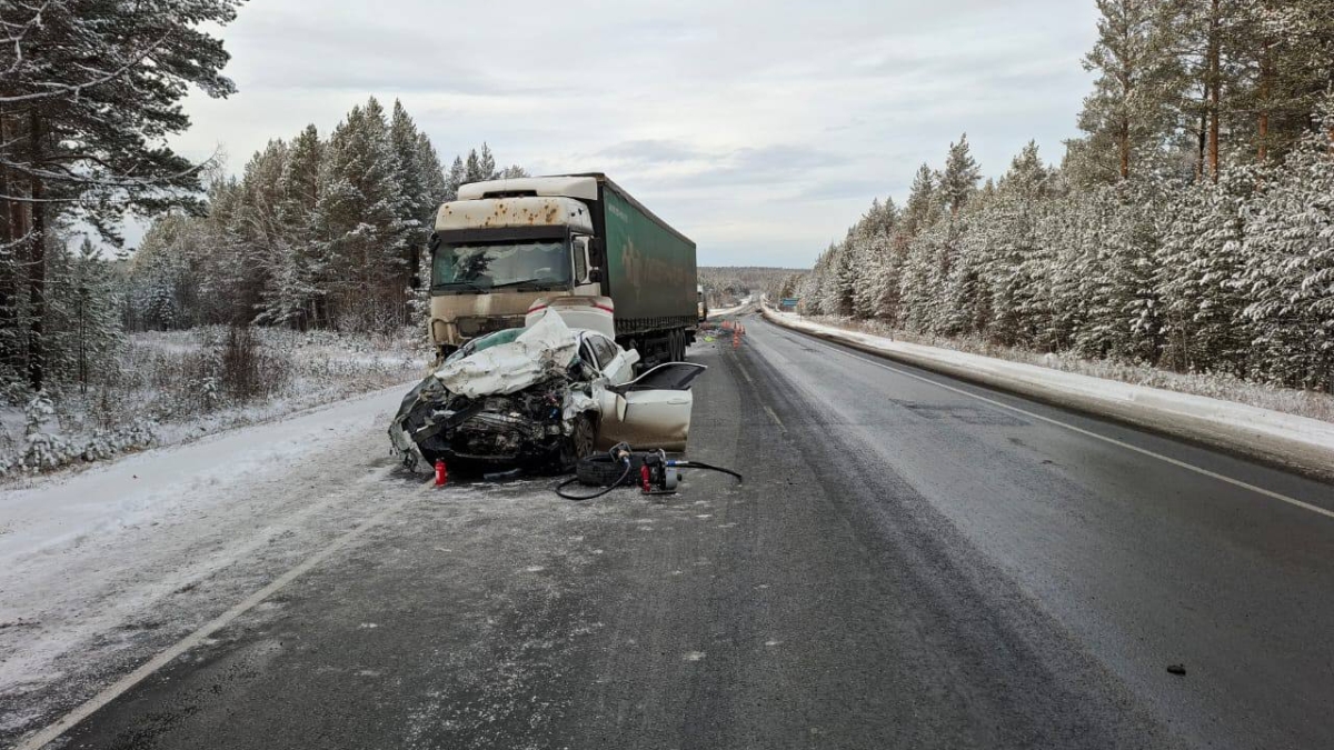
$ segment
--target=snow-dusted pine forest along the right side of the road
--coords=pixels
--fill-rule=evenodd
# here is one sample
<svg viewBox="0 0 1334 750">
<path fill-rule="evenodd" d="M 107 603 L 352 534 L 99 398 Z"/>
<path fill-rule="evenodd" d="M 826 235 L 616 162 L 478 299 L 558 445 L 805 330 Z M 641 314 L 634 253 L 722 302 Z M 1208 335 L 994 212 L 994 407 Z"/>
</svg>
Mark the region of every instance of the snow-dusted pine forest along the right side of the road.
<svg viewBox="0 0 1334 750">
<path fill-rule="evenodd" d="M 1334 4 L 1099 0 L 1082 137 L 875 200 L 806 312 L 1334 390 Z"/>
</svg>

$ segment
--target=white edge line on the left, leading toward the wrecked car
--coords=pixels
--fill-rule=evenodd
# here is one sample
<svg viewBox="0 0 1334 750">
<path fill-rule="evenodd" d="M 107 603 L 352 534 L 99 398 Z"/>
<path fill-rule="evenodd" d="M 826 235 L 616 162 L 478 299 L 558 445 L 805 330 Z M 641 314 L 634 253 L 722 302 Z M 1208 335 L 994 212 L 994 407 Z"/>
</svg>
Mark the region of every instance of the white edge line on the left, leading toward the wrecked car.
<svg viewBox="0 0 1334 750">
<path fill-rule="evenodd" d="M 431 487 L 434 483 L 435 483 L 435 480 L 432 478 L 430 482 L 427 482 L 426 487 Z M 135 671 L 132 671 L 132 673 L 127 674 L 125 677 L 117 679 L 113 685 L 111 685 L 109 687 L 107 687 L 101 693 L 93 695 L 92 698 L 89 698 L 88 701 L 85 701 L 83 705 L 80 705 L 77 709 L 69 711 L 64 717 L 60 717 L 60 719 L 56 721 L 55 723 L 47 726 L 45 729 L 43 729 L 41 731 L 39 731 L 37 734 L 33 734 L 32 737 L 29 737 L 28 739 L 25 739 L 20 745 L 17 745 L 15 747 L 15 750 L 40 750 L 41 747 L 45 747 L 47 743 L 49 743 L 51 741 L 59 738 L 61 734 L 64 734 L 65 731 L 68 731 L 69 729 L 72 729 L 75 725 L 77 725 L 79 722 L 84 721 L 85 718 L 91 717 L 93 713 L 96 713 L 99 709 L 101 709 L 107 703 L 111 703 L 112 701 L 115 701 L 116 698 L 119 698 L 120 695 L 123 695 L 125 691 L 128 691 L 129 689 L 132 689 L 133 686 L 139 685 L 140 682 L 143 682 L 149 675 L 152 675 L 155 671 L 157 671 L 161 667 L 167 666 L 176 657 L 180 657 L 185 651 L 189 651 L 195 646 L 199 646 L 200 643 L 204 642 L 204 639 L 207 639 L 212 634 L 217 633 L 219 630 L 227 627 L 232 621 L 235 621 L 236 618 L 239 618 L 243 614 L 248 613 L 249 610 L 255 609 L 256 605 L 259 605 L 264 599 L 272 597 L 273 594 L 276 594 L 277 591 L 280 591 L 283 587 L 285 587 L 288 583 L 291 583 L 291 582 L 296 581 L 297 578 L 300 578 L 301 575 L 309 573 L 311 569 L 313 569 L 315 566 L 317 566 L 321 562 L 327 560 L 329 558 L 329 555 L 332 555 L 334 552 L 342 550 L 346 546 L 348 546 L 358 536 L 360 536 L 362 534 L 367 532 L 368 530 L 375 528 L 376 526 L 379 526 L 380 523 L 383 523 L 384 519 L 387 519 L 388 516 L 394 515 L 394 512 L 396 512 L 403 506 L 411 503 L 415 499 L 416 499 L 416 494 L 414 494 L 412 496 L 410 496 L 406 500 L 395 503 L 395 504 L 392 504 L 392 506 L 382 510 L 380 512 L 372 515 L 366 523 L 358 526 L 356 528 L 348 531 L 347 534 L 344 534 L 342 536 L 339 536 L 329 546 L 324 547 L 323 550 L 320 550 L 320 551 L 315 552 L 313 555 L 311 555 L 311 556 L 305 558 L 304 560 L 301 560 L 301 565 L 299 565 L 299 566 L 293 567 L 292 570 L 284 573 L 283 575 L 275 578 L 268 586 L 260 589 L 259 591 L 255 591 L 253 594 L 251 594 L 249 597 L 247 597 L 244 601 L 241 601 L 239 605 L 233 606 L 232 609 L 227 610 L 225 613 L 223 613 L 223 614 L 217 615 L 216 618 L 211 619 L 209 622 L 204 623 L 203 627 L 200 627 L 195 633 L 191 633 L 185 638 L 177 641 L 175 645 L 172 645 L 165 651 L 161 651 L 160 654 L 157 654 L 152 659 L 148 659 L 145 663 L 140 665 L 140 667 L 136 669 Z"/>
</svg>

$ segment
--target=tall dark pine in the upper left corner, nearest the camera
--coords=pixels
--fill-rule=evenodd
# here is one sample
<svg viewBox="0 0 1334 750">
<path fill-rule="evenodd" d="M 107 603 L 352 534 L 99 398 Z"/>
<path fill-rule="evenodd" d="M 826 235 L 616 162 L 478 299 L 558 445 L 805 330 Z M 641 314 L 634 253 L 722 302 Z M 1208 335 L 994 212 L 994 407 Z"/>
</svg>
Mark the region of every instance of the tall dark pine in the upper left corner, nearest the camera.
<svg viewBox="0 0 1334 750">
<path fill-rule="evenodd" d="M 209 96 L 235 91 L 220 73 L 228 55 L 207 31 L 229 23 L 239 4 L 4 5 L 0 194 L 21 210 L 0 224 L 0 247 L 20 247 L 25 256 L 23 364 L 33 390 L 47 376 L 45 267 L 55 228 L 81 219 L 119 242 L 127 211 L 153 214 L 193 202 L 196 167 L 164 139 L 189 125 L 179 101 L 191 84 Z"/>
</svg>

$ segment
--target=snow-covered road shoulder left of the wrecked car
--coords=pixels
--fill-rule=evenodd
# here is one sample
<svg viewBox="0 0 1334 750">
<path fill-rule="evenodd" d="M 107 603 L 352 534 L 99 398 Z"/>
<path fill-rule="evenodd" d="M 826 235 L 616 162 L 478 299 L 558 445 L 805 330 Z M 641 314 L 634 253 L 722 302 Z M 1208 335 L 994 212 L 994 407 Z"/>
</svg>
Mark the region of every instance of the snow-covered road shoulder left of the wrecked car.
<svg viewBox="0 0 1334 750">
<path fill-rule="evenodd" d="M 0 492 L 0 703 L 188 633 L 263 585 L 233 563 L 289 567 L 372 514 L 410 386 Z"/>
</svg>

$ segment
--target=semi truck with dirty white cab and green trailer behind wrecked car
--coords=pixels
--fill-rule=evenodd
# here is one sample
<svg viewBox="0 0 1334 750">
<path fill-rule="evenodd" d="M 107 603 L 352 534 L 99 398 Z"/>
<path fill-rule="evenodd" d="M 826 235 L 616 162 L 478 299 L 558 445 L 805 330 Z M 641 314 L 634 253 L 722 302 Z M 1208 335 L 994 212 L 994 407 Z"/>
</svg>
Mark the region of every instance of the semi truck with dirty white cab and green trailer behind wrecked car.
<svg viewBox="0 0 1334 750">
<path fill-rule="evenodd" d="M 644 367 L 684 359 L 699 324 L 695 243 L 600 172 L 459 187 L 431 236 L 431 339 L 440 356 L 523 327 L 539 299 L 611 308 Z"/>
</svg>

